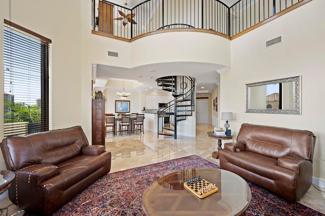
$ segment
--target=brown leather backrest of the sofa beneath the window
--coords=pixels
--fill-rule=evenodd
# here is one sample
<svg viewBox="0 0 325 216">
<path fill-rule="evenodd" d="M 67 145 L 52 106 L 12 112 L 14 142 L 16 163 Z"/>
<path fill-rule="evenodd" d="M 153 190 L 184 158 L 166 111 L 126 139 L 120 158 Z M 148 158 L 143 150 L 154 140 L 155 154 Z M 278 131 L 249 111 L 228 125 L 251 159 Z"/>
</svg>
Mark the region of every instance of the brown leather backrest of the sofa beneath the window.
<svg viewBox="0 0 325 216">
<path fill-rule="evenodd" d="M 56 165 L 81 154 L 88 146 L 86 135 L 80 126 L 51 130 L 27 136 L 11 136 L 3 139 L 1 150 L 9 170 L 42 163 Z"/>
</svg>

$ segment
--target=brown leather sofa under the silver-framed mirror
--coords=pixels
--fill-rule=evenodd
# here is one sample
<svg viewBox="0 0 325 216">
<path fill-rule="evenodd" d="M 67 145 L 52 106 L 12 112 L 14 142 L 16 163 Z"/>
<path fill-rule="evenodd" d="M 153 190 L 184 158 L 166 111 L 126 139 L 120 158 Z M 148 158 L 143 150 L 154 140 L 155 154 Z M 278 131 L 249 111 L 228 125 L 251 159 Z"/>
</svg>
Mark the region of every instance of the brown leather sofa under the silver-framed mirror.
<svg viewBox="0 0 325 216">
<path fill-rule="evenodd" d="M 315 141 L 310 131 L 245 123 L 219 151 L 220 167 L 295 203 L 312 184 Z"/>
</svg>

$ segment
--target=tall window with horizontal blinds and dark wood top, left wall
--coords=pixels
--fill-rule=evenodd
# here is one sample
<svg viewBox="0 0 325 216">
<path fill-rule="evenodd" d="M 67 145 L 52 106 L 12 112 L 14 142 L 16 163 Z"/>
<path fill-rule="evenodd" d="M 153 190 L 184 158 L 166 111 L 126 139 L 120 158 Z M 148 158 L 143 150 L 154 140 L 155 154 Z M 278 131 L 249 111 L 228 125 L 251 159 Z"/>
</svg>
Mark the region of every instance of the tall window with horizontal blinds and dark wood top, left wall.
<svg viewBox="0 0 325 216">
<path fill-rule="evenodd" d="M 50 129 L 51 40 L 5 20 L 4 137 Z"/>
</svg>

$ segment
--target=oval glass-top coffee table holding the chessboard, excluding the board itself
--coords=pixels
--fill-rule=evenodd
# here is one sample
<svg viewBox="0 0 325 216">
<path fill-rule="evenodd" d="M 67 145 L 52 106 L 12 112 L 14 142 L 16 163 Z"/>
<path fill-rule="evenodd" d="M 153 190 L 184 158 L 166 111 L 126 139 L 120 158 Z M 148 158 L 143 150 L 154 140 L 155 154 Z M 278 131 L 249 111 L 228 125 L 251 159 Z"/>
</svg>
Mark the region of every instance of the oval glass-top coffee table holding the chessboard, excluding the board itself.
<svg viewBox="0 0 325 216">
<path fill-rule="evenodd" d="M 201 176 L 218 191 L 198 198 L 183 183 Z M 192 168 L 166 175 L 145 192 L 142 207 L 147 215 L 241 215 L 248 208 L 251 192 L 246 181 L 228 170 Z"/>
</svg>

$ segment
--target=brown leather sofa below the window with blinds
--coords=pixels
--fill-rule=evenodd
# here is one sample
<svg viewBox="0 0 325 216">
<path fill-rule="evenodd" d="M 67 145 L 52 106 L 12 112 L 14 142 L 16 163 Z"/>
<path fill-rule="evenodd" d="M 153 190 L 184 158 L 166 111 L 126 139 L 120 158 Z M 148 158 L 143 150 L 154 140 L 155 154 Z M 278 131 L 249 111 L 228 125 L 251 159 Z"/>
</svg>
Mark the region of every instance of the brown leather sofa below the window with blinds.
<svg viewBox="0 0 325 216">
<path fill-rule="evenodd" d="M 80 126 L 7 137 L 0 145 L 16 174 L 9 198 L 32 214 L 52 214 L 111 169 L 111 153 L 89 146 Z"/>
</svg>

